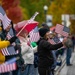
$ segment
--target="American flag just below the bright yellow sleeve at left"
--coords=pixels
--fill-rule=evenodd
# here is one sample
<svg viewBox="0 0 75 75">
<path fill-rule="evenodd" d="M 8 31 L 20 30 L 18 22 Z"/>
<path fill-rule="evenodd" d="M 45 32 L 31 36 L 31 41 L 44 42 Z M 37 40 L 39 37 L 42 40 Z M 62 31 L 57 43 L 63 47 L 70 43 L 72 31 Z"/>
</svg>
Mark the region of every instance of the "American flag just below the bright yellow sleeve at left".
<svg viewBox="0 0 75 75">
<path fill-rule="evenodd" d="M 3 49 L 1 49 L 1 52 L 4 56 L 16 55 L 19 53 L 18 50 L 15 51 L 15 48 L 13 46 L 3 48 Z"/>
</svg>

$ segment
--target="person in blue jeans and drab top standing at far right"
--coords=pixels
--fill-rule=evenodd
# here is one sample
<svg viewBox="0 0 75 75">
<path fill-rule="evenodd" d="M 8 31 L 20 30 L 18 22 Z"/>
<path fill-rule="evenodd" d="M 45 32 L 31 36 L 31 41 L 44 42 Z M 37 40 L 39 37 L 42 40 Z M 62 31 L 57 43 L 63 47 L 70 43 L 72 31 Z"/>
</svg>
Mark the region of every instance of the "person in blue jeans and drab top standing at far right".
<svg viewBox="0 0 75 75">
<path fill-rule="evenodd" d="M 71 34 L 69 34 L 69 36 L 67 37 L 67 41 L 65 42 L 65 46 L 66 46 L 66 65 L 72 66 L 72 64 L 70 62 L 72 50 L 73 50 L 73 42 L 71 39 Z"/>
</svg>

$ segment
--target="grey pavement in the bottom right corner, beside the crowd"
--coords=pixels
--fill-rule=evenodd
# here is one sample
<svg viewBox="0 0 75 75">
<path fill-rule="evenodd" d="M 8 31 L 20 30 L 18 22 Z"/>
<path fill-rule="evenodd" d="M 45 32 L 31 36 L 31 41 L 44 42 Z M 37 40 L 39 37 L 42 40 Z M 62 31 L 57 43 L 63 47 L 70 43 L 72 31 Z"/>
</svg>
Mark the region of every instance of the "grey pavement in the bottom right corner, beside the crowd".
<svg viewBox="0 0 75 75">
<path fill-rule="evenodd" d="M 59 75 L 75 75 L 75 52 L 72 53 L 71 63 L 73 66 L 65 66 L 60 71 Z"/>
</svg>

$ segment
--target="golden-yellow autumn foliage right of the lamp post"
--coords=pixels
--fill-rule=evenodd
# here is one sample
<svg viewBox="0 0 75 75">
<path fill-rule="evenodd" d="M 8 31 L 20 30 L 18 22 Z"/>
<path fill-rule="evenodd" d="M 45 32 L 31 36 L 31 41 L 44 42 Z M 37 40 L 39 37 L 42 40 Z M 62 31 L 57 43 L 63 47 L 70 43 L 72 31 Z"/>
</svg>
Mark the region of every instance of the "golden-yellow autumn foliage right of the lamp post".
<svg viewBox="0 0 75 75">
<path fill-rule="evenodd" d="M 61 24 L 61 15 L 62 14 L 75 14 L 75 0 L 55 0 L 50 6 L 48 14 L 53 15 L 53 23 Z M 75 22 L 71 21 L 71 33 L 75 33 Z"/>
</svg>

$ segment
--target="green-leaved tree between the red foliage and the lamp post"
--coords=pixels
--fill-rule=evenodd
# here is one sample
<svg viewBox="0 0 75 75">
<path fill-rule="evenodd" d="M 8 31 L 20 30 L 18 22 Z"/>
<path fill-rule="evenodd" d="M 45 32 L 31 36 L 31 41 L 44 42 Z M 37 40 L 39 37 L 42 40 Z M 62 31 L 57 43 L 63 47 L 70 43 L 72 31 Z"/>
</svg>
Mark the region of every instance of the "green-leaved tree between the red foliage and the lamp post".
<svg viewBox="0 0 75 75">
<path fill-rule="evenodd" d="M 39 21 L 41 25 L 44 19 L 44 5 L 49 6 L 50 0 L 21 0 L 21 6 L 23 8 L 23 13 L 27 16 L 24 19 L 29 19 L 36 11 L 39 12 L 39 15 L 35 18 L 35 20 Z"/>
</svg>

